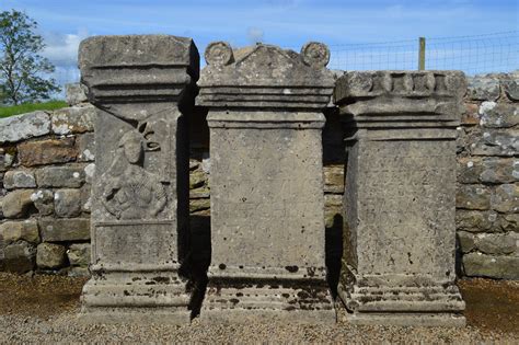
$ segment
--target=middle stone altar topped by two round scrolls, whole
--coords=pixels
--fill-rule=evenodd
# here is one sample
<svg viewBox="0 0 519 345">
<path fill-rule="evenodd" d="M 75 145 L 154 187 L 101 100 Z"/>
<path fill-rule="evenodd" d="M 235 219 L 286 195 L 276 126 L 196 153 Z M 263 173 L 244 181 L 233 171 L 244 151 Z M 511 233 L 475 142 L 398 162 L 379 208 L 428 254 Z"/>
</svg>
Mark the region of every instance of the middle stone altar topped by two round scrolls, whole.
<svg viewBox="0 0 519 345">
<path fill-rule="evenodd" d="M 321 145 L 330 51 L 216 42 L 205 57 L 197 102 L 209 108 L 212 255 L 200 317 L 334 321 Z"/>
</svg>

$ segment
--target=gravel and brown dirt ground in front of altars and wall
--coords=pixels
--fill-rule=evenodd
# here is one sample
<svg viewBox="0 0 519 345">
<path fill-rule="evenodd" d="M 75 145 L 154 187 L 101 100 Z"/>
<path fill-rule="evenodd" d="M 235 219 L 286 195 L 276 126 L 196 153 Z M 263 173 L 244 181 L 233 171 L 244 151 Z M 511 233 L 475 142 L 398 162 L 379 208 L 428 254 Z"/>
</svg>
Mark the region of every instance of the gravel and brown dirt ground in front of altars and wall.
<svg viewBox="0 0 519 345">
<path fill-rule="evenodd" d="M 255 323 L 244 325 L 82 325 L 84 279 L 0 273 L 0 343 L 519 343 L 519 284 L 462 280 L 464 329 Z"/>
</svg>

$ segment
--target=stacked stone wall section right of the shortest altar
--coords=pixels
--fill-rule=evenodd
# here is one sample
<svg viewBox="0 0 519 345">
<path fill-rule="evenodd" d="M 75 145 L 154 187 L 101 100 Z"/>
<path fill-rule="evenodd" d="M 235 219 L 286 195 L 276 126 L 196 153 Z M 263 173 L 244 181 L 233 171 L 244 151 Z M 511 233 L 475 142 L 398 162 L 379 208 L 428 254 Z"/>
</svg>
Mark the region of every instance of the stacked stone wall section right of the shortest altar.
<svg viewBox="0 0 519 345">
<path fill-rule="evenodd" d="M 469 78 L 459 127 L 461 275 L 519 279 L 519 73 Z"/>
</svg>

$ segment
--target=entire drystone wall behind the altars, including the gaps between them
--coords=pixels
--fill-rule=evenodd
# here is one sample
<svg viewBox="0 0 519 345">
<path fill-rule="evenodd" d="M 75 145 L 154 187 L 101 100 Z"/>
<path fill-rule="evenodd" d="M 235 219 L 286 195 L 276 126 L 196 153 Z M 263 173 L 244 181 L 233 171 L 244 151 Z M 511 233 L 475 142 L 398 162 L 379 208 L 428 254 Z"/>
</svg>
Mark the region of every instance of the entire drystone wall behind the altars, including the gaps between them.
<svg viewBox="0 0 519 345">
<path fill-rule="evenodd" d="M 343 72 L 335 71 L 336 78 Z M 458 128 L 458 276 L 519 279 L 519 72 L 469 78 Z M 93 107 L 79 85 L 70 107 L 0 120 L 0 269 L 88 274 Z M 193 269 L 210 260 L 207 110 L 189 119 Z M 338 111 L 325 111 L 323 173 L 328 281 L 343 255 L 344 138 Z M 76 173 L 76 174 L 74 174 Z M 335 291 L 332 291 L 335 292 Z"/>
</svg>

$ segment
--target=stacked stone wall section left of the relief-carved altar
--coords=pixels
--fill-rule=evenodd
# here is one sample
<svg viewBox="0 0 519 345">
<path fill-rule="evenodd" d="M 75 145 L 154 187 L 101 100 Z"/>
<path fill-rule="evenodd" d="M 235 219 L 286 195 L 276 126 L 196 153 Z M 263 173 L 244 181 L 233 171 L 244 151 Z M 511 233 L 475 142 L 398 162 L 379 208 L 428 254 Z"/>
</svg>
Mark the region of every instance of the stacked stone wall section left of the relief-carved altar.
<svg viewBox="0 0 519 345">
<path fill-rule="evenodd" d="M 69 107 L 1 122 L 0 267 L 5 271 L 88 274 L 95 114 L 84 94 L 69 99 Z"/>
</svg>

